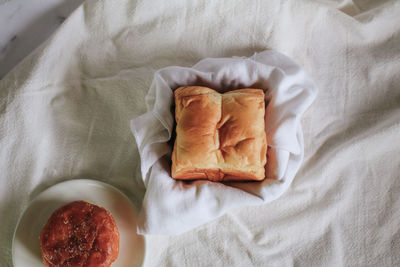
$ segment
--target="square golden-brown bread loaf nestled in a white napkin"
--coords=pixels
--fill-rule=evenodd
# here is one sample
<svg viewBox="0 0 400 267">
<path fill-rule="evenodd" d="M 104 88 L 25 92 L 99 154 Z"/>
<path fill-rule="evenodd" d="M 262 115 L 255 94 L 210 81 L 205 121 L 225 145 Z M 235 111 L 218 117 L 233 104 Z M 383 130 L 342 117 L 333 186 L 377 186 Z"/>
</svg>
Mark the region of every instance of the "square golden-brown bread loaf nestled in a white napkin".
<svg viewBox="0 0 400 267">
<path fill-rule="evenodd" d="M 261 89 L 220 94 L 201 86 L 175 90 L 172 177 L 211 181 L 265 178 L 267 140 Z"/>
</svg>

